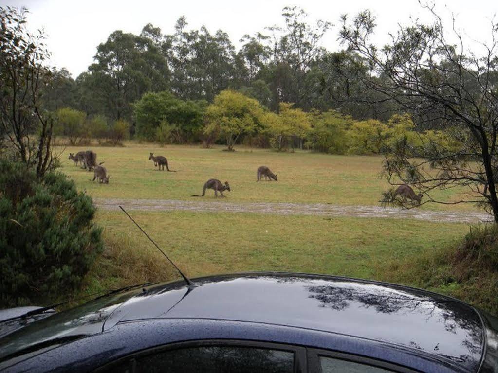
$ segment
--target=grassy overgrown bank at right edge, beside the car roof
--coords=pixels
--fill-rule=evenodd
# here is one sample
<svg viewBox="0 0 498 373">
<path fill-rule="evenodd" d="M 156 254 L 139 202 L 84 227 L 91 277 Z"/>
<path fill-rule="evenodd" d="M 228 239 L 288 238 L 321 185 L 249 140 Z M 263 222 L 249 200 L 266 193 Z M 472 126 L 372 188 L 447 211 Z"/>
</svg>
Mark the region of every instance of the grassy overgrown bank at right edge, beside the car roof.
<svg viewBox="0 0 498 373">
<path fill-rule="evenodd" d="M 497 238 L 496 224 L 471 227 L 452 244 L 379 263 L 378 272 L 386 281 L 445 293 L 498 316 Z"/>
</svg>

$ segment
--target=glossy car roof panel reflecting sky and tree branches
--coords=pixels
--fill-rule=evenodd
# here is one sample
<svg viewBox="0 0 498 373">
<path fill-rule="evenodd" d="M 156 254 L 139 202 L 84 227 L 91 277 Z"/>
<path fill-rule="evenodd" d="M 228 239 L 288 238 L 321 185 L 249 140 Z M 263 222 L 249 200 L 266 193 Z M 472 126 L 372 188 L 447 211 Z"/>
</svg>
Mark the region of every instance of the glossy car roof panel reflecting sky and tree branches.
<svg viewBox="0 0 498 373">
<path fill-rule="evenodd" d="M 156 285 L 117 307 L 104 323 L 205 318 L 340 333 L 411 349 L 477 370 L 484 327 L 454 298 L 375 281 L 304 274 L 222 275 Z"/>
</svg>

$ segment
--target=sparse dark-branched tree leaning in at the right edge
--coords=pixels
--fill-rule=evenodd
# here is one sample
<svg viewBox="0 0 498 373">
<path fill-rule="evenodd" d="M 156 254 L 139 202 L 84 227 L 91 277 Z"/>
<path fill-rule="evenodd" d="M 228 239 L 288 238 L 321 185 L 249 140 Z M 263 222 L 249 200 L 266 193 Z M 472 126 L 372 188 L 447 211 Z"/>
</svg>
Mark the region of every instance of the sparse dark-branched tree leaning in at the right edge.
<svg viewBox="0 0 498 373">
<path fill-rule="evenodd" d="M 368 61 L 369 79 L 363 83 L 413 113 L 416 127 L 443 129 L 457 148 L 439 141 L 410 146 L 404 138 L 386 150 L 384 173 L 391 184 L 411 184 L 421 190 L 426 202 L 479 203 L 498 223 L 498 91 L 497 33 L 483 44 L 478 56 L 467 50 L 464 39 L 450 25 L 458 42 L 446 38 L 446 28 L 434 7 L 424 6 L 434 23 L 418 21 L 402 27 L 392 41 L 377 48 L 370 41 L 375 18 L 370 11 L 358 14 L 352 23 L 343 17 L 342 40 Z M 384 77 L 379 80 L 376 77 Z M 455 202 L 438 200 L 437 188 L 466 188 L 467 196 Z"/>
</svg>

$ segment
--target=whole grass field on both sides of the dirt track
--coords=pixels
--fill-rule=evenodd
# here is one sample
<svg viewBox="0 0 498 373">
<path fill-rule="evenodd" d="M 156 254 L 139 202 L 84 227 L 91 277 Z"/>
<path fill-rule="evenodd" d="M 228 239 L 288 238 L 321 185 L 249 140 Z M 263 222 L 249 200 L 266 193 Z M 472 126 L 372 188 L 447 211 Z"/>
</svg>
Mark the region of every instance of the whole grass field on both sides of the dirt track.
<svg viewBox="0 0 498 373">
<path fill-rule="evenodd" d="M 275 153 L 244 147 L 228 153 L 221 147 L 158 148 L 137 143 L 93 148 L 111 176 L 109 185 L 99 185 L 90 181 L 93 173 L 67 159 L 70 151 L 83 149 L 65 149 L 62 171 L 78 188 L 98 198 L 199 200 L 190 195 L 199 193 L 206 180 L 217 178 L 230 182 L 228 198 L 216 200 L 211 190 L 203 201 L 378 205 L 381 191 L 388 187 L 379 178 L 381 157 Z M 166 156 L 170 169 L 177 172 L 155 171 L 148 160 L 150 152 Z M 278 182 L 256 183 L 260 165 L 277 173 Z M 452 190 L 438 193 L 448 201 L 458 198 Z M 475 209 L 430 204 L 422 208 Z M 410 263 L 422 257 L 429 263 L 432 253 L 455 246 L 469 231 L 463 223 L 401 218 L 142 210 L 130 214 L 191 277 L 244 271 L 309 272 L 394 280 L 449 294 L 455 294 L 458 286 L 446 286 L 444 279 L 432 283 L 426 279 L 427 271 L 424 280 L 416 271 L 405 277 L 400 268 L 410 269 Z M 99 209 L 96 219 L 105 229 L 106 251 L 87 277 L 84 293 L 176 276 L 122 212 Z M 481 303 L 486 306 L 486 301 Z"/>
</svg>

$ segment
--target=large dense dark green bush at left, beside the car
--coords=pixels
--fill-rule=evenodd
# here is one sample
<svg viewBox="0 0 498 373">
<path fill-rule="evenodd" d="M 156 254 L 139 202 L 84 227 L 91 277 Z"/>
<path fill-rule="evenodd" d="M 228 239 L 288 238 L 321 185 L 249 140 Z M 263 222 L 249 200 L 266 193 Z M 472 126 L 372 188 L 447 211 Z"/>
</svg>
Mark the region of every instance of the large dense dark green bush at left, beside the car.
<svg viewBox="0 0 498 373">
<path fill-rule="evenodd" d="M 1 305 L 46 303 L 80 284 L 103 250 L 95 207 L 60 173 L 0 159 Z"/>
</svg>

